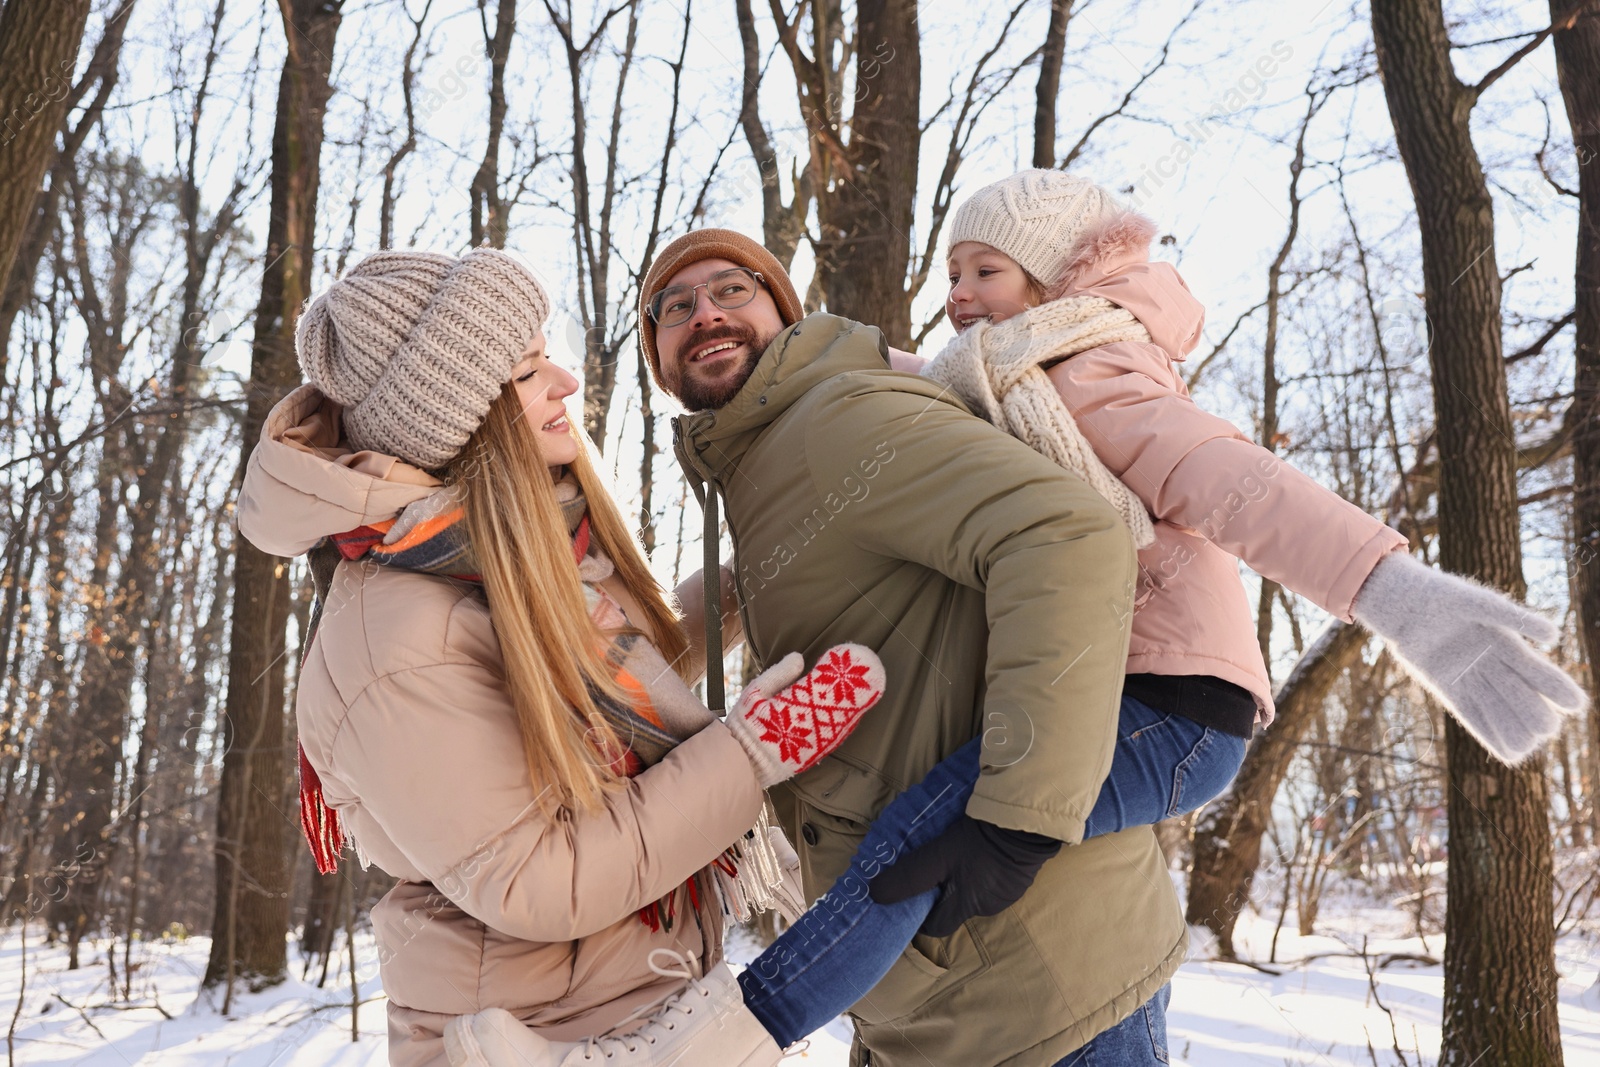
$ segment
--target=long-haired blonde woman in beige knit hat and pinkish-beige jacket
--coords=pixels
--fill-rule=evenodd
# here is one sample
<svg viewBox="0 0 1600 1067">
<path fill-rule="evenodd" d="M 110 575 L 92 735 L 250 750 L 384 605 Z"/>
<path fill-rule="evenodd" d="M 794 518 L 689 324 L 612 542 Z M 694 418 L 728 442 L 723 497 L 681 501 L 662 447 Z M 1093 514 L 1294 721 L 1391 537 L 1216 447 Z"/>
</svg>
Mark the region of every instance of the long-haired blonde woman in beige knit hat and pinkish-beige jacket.
<svg viewBox="0 0 1600 1067">
<path fill-rule="evenodd" d="M 790 656 L 726 726 L 693 699 L 667 665 L 690 669 L 683 629 L 566 421 L 547 307 L 499 251 L 378 253 L 301 318 L 309 384 L 267 419 L 238 526 L 315 547 L 325 579 L 296 696 L 307 837 L 328 870 L 347 825 L 398 878 L 373 909 L 394 1064 L 443 1064 L 446 1024 L 488 1008 L 550 1038 L 710 1011 L 718 1062 L 771 1064 L 722 909 L 771 888 L 728 877 L 763 857 L 763 787 L 826 750 L 752 726 L 824 697 L 859 715 L 882 665 L 840 646 L 789 685 Z M 840 662 L 850 685 L 819 675 Z"/>
</svg>

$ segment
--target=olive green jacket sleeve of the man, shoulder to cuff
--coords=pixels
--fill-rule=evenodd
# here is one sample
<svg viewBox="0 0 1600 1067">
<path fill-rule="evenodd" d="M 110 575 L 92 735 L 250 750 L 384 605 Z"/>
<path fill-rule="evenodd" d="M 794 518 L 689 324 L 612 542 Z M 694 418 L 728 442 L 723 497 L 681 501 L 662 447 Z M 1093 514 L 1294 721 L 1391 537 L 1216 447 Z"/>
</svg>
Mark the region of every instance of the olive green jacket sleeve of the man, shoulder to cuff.
<svg viewBox="0 0 1600 1067">
<path fill-rule="evenodd" d="M 814 418 L 819 493 L 883 443 L 854 544 L 984 592 L 982 774 L 966 813 L 1075 843 L 1110 769 L 1128 656 L 1133 539 L 1075 475 L 938 395 L 862 376 Z"/>
</svg>

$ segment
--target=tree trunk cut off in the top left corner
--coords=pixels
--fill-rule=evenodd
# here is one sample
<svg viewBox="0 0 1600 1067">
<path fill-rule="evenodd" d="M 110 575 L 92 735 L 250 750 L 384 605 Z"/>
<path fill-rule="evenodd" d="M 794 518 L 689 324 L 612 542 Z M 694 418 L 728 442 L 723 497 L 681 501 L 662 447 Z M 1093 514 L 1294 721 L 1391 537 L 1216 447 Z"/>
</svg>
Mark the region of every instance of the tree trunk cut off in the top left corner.
<svg viewBox="0 0 1600 1067">
<path fill-rule="evenodd" d="M 90 0 L 0 8 L 0 280 L 34 218 L 38 184 L 56 158 Z M 0 381 L 6 338 L 0 336 Z"/>
</svg>

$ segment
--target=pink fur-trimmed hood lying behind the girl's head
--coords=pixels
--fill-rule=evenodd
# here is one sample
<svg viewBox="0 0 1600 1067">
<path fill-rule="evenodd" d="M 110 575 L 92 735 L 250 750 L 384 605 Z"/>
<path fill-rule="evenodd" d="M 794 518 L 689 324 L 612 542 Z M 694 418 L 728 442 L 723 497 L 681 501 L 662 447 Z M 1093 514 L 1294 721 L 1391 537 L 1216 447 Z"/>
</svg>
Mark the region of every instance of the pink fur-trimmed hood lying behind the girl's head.
<svg viewBox="0 0 1600 1067">
<path fill-rule="evenodd" d="M 1067 256 L 1046 299 L 1099 296 L 1133 314 L 1168 358 L 1182 362 L 1200 344 L 1205 306 L 1170 262 L 1150 262 L 1155 224 L 1123 211 L 1091 230 Z"/>
</svg>

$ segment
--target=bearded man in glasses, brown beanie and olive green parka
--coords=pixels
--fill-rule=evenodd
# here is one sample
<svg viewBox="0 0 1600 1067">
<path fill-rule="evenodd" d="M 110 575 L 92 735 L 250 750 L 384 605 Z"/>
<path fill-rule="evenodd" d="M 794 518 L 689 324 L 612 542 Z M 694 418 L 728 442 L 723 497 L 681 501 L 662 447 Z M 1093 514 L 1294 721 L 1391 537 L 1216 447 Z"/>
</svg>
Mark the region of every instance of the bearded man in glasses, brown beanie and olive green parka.
<svg viewBox="0 0 1600 1067">
<path fill-rule="evenodd" d="M 853 1064 L 1074 1064 L 1141 1011 L 1163 1041 L 1150 1006 L 1165 1003 L 1186 929 L 1155 835 L 1082 840 L 1128 646 L 1134 555 L 1115 512 L 934 382 L 891 371 L 877 330 L 803 317 L 782 267 L 739 234 L 698 230 L 662 250 L 640 291 L 640 342 L 691 411 L 677 453 L 704 486 L 712 534 L 717 496 L 726 504 L 757 657 L 810 659 L 850 640 L 888 673 L 835 755 L 774 790 L 808 896 L 846 869 L 894 795 L 984 737 L 946 862 L 920 864 L 941 872 L 934 915 L 968 921 L 918 934 L 854 1006 Z M 707 573 L 717 565 L 709 536 Z M 707 633 L 714 707 L 717 640 Z M 1018 865 L 1037 870 L 1030 886 L 994 888 L 1019 851 L 1058 848 Z"/>
</svg>

